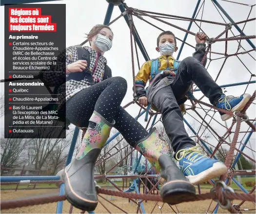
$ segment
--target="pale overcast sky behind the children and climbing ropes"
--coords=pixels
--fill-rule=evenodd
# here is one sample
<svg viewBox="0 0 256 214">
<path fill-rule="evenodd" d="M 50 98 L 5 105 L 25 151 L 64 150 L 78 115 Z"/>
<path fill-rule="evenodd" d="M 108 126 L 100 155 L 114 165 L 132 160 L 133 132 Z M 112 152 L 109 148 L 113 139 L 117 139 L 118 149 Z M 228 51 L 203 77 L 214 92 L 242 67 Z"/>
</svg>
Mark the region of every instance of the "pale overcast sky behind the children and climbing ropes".
<svg viewBox="0 0 256 214">
<path fill-rule="evenodd" d="M 242 2 L 246 4 L 255 4 L 255 0 L 233 0 L 233 1 Z M 158 0 L 158 1 L 156 0 L 136 0 L 136 1 L 125 0 L 125 2 L 127 3 L 128 6 L 133 8 L 138 8 L 141 10 L 154 11 L 154 12 L 184 16 L 184 17 L 192 17 L 197 0 L 178 0 L 178 1 L 177 0 L 168 0 L 168 1 L 167 0 Z M 201 3 L 202 2 L 203 0 L 201 0 Z M 247 19 L 247 16 L 251 9 L 251 7 L 249 6 L 230 3 L 223 0 L 218 0 L 218 2 L 227 11 L 230 17 L 232 17 L 232 19 L 234 19 L 234 21 L 236 22 Z M 65 3 L 66 4 L 66 46 L 77 45 L 81 43 L 83 40 L 86 39 L 85 33 L 89 33 L 90 29 L 94 25 L 103 23 L 106 9 L 108 6 L 108 3 L 105 0 L 62 0 L 62 1 L 52 1 L 52 2 L 45 2 L 45 3 L 46 4 Z M 2 12 L 3 12 L 3 7 L 1 7 L 1 18 L 3 18 Z M 249 19 L 255 18 L 255 12 L 256 10 L 254 6 Z M 115 19 L 119 15 L 120 15 L 120 10 L 118 6 L 115 6 L 111 20 Z M 224 20 L 221 18 L 221 16 L 217 12 L 217 9 L 215 8 L 211 0 L 206 0 L 203 14 L 202 14 L 202 10 L 200 10 L 197 18 L 200 19 L 201 16 L 202 16 L 202 19 L 205 19 L 205 20 L 224 23 Z M 227 22 L 230 22 L 228 21 L 228 19 L 225 18 L 225 16 L 223 17 Z M 173 28 L 169 25 L 166 25 L 164 23 L 161 23 L 151 18 L 145 18 L 145 19 L 164 30 L 171 30 L 180 39 L 184 38 L 185 32 L 181 30 L 178 30 L 176 28 Z M 185 29 L 187 29 L 187 26 L 189 24 L 188 21 L 174 20 L 174 19 L 165 19 L 165 20 Z M 134 22 L 137 27 L 139 36 L 146 47 L 149 57 L 157 58 L 159 56 L 159 53 L 155 50 L 156 43 L 157 43 L 156 40 L 158 35 L 161 33 L 161 31 L 147 24 L 144 21 L 137 19 L 136 17 L 134 18 Z M 200 25 L 200 22 L 197 22 L 197 24 Z M 1 26 L 3 26 L 2 22 L 1 22 Z M 241 29 L 243 28 L 243 26 L 244 24 L 239 24 L 239 27 Z M 112 46 L 112 49 L 109 52 L 106 52 L 104 56 L 107 58 L 108 65 L 112 69 L 112 75 L 121 76 L 125 78 L 128 82 L 127 94 L 122 102 L 122 105 L 125 105 L 133 99 L 133 96 L 132 96 L 133 95 L 133 91 L 132 91 L 133 77 L 132 77 L 132 60 L 131 60 L 131 47 L 130 47 L 130 31 L 129 31 L 129 27 L 127 26 L 123 18 L 118 19 L 118 21 L 116 21 L 114 24 L 111 25 L 111 28 L 114 32 L 113 46 Z M 206 34 L 210 38 L 216 37 L 225 29 L 224 26 L 214 25 L 214 24 L 209 24 L 204 22 L 201 23 L 201 28 L 204 30 L 204 32 L 206 32 Z M 194 33 L 198 32 L 198 27 L 195 23 L 192 24 L 190 31 Z M 232 27 L 232 31 L 236 36 L 239 34 L 234 26 Z M 248 22 L 244 28 L 244 33 L 246 35 L 255 35 L 255 31 L 256 31 L 255 21 Z M 1 33 L 1 37 L 2 36 L 3 36 L 3 33 Z M 229 37 L 233 36 L 230 31 L 228 36 Z M 255 44 L 255 39 L 251 39 L 251 41 L 253 42 L 253 44 Z M 187 42 L 192 44 L 193 46 L 196 45 L 195 37 L 192 35 L 188 35 Z M 180 47 L 180 45 L 181 45 L 181 42 L 177 41 L 177 46 Z M 251 46 L 246 42 L 246 40 L 242 40 L 241 45 L 246 50 L 252 49 Z M 3 39 L 1 39 L 1 46 L 3 47 Z M 229 41 L 228 54 L 235 53 L 237 50 L 237 46 L 238 46 L 237 41 Z M 216 42 L 215 44 L 213 44 L 212 51 L 218 52 L 218 53 L 224 53 L 225 42 Z M 242 49 L 240 49 L 240 51 L 242 51 Z M 179 59 L 182 60 L 183 58 L 192 56 L 193 52 L 194 52 L 194 49 L 185 44 Z M 175 58 L 177 57 L 177 53 L 174 54 Z M 250 52 L 250 53 L 254 58 L 256 57 L 255 52 Z M 3 49 L 1 49 L 1 55 L 2 54 L 3 54 Z M 134 52 L 134 54 L 136 53 Z M 209 56 L 210 55 L 208 54 L 208 58 Z M 212 59 L 220 58 L 220 57 L 222 56 L 216 55 L 216 54 L 211 55 Z M 243 63 L 247 66 L 247 68 L 250 70 L 252 74 L 256 73 L 255 59 L 251 58 L 248 54 L 239 55 L 239 58 L 243 61 Z M 219 72 L 219 69 L 223 61 L 224 61 L 224 58 L 217 59 L 211 62 L 208 68 L 208 72 L 211 74 L 211 76 L 214 79 L 217 77 L 217 74 Z M 144 62 L 145 62 L 145 59 L 143 58 L 142 54 L 139 52 L 140 66 Z M 209 63 L 209 59 L 208 59 L 208 63 Z M 135 55 L 135 73 L 137 74 L 137 72 L 138 72 L 138 63 Z M 4 73 L 3 63 L 1 63 L 1 78 L 3 78 L 3 73 Z M 217 79 L 217 83 L 219 85 L 223 85 L 223 84 L 230 84 L 230 83 L 236 83 L 236 82 L 244 82 L 244 81 L 249 81 L 250 77 L 251 77 L 251 74 L 242 65 L 239 59 L 236 57 L 230 57 L 227 59 L 223 67 L 223 70 L 219 78 Z M 253 77 L 252 80 L 255 80 L 255 77 Z M 227 91 L 226 95 L 240 96 L 241 94 L 244 93 L 245 88 L 246 88 L 246 85 L 226 88 L 226 91 Z M 255 91 L 255 84 L 250 84 L 246 90 L 246 93 L 249 93 L 252 95 L 254 91 Z M 196 98 L 200 98 L 202 96 L 200 92 L 195 92 L 194 95 Z M 207 98 L 203 98 L 202 100 L 209 103 Z M 190 101 L 187 101 L 186 104 L 190 105 Z M 256 117 L 255 109 L 256 109 L 255 104 L 252 104 L 251 107 L 248 109 L 247 114 L 250 119 L 255 119 Z M 203 110 L 200 110 L 200 109 L 197 109 L 197 110 L 202 115 L 202 117 L 205 116 Z M 127 108 L 127 111 L 133 117 L 135 117 L 138 114 L 139 107 L 136 104 L 133 104 Z M 191 110 L 189 110 L 188 113 L 191 116 L 196 117 L 199 121 L 201 121 L 200 118 L 198 118 L 198 116 Z M 190 123 L 193 123 L 195 119 L 191 117 L 189 114 L 185 115 L 185 119 L 188 120 Z M 210 113 L 210 115 L 212 115 L 212 112 Z M 139 119 L 139 122 L 145 126 L 146 123 L 144 122 L 144 118 L 145 116 L 143 115 Z M 224 125 L 224 122 L 222 122 L 218 113 L 215 114 L 214 118 Z M 208 122 L 210 121 L 210 119 L 211 117 L 206 117 L 206 120 Z M 232 122 L 232 119 L 227 121 L 228 126 L 230 126 L 231 122 Z M 223 127 L 221 127 L 219 124 L 217 124 L 217 122 L 212 121 L 210 124 L 220 136 L 222 136 L 225 133 L 226 130 Z M 197 121 L 195 121 L 196 130 L 199 128 L 199 126 L 200 124 Z M 248 125 L 243 122 L 241 126 L 241 131 L 247 131 L 247 129 L 248 129 Z M 209 131 L 206 131 L 203 136 L 205 136 L 208 132 Z M 199 132 L 199 135 L 200 134 L 201 132 Z M 211 134 L 209 135 L 210 135 L 210 138 L 208 138 L 209 143 L 213 145 L 217 145 L 217 140 L 215 139 L 215 137 L 212 136 Z M 238 141 L 240 141 L 242 137 L 243 135 L 240 135 Z M 255 150 L 254 142 L 255 142 L 255 133 L 251 137 L 251 143 L 252 143 L 253 149 Z M 229 146 L 224 146 L 224 147 L 229 149 Z M 237 144 L 237 148 L 238 147 L 239 147 L 239 144 Z M 252 156 L 252 153 L 250 150 L 246 149 L 245 151 L 248 155 Z"/>
</svg>

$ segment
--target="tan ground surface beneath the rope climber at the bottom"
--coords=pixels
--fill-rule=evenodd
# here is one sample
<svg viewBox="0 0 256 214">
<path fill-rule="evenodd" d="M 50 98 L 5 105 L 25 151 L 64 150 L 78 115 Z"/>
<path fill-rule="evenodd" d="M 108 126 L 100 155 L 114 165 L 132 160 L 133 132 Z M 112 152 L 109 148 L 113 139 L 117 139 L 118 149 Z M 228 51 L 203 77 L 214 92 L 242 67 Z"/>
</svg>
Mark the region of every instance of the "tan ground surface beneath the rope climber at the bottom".
<svg viewBox="0 0 256 214">
<path fill-rule="evenodd" d="M 201 193 L 208 193 L 209 190 L 202 189 Z M 14 190 L 2 190 L 1 191 L 1 200 L 7 200 L 7 199 L 15 199 L 15 198 L 20 198 L 20 197 L 25 197 L 25 196 L 30 196 L 30 195 L 39 195 L 39 194 L 46 194 L 46 193 L 56 193 L 58 194 L 58 190 L 19 190 L 19 191 L 14 191 Z M 102 195 L 103 197 L 106 198 L 106 195 Z M 118 208 L 114 207 L 104 199 L 99 198 L 99 201 L 104 204 L 107 209 L 111 213 L 123 213 L 120 211 Z M 108 199 L 110 199 L 110 196 L 108 196 Z M 197 214 L 204 214 L 209 205 L 211 204 L 212 200 L 203 200 L 203 201 L 196 201 L 196 202 L 186 202 L 182 204 L 178 204 L 177 206 L 172 206 L 172 208 L 176 211 L 176 213 L 197 213 Z M 115 197 L 112 198 L 111 200 L 112 203 L 117 205 L 118 207 L 122 208 L 124 211 L 127 213 L 136 213 L 137 211 L 137 205 L 133 202 L 129 203 L 128 199 L 121 198 L 121 197 Z M 239 200 L 234 200 L 233 203 L 239 203 Z M 154 201 L 148 201 L 147 203 L 143 202 L 144 208 L 146 213 L 151 213 L 156 202 Z M 213 203 L 210 206 L 210 209 L 208 213 L 212 212 L 214 207 L 216 205 L 216 202 L 213 201 Z M 35 206 L 29 206 L 29 207 L 22 207 L 22 208 L 17 208 L 17 209 L 9 209 L 9 210 L 1 210 L 2 214 L 9 214 L 9 213 L 15 213 L 15 214 L 32 214 L 32 213 L 47 213 L 47 214 L 53 214 L 56 213 L 56 207 L 57 203 L 49 203 L 49 204 L 43 204 L 43 205 L 35 205 Z M 62 213 L 68 213 L 70 208 L 70 203 L 68 201 L 64 201 L 63 203 L 63 209 Z M 160 209 L 161 208 L 161 209 Z M 255 209 L 255 205 L 252 202 L 245 202 L 242 208 L 247 208 L 247 209 Z M 77 208 L 74 208 L 73 214 L 79 213 L 80 210 Z M 108 213 L 108 211 L 101 205 L 98 204 L 95 213 Z M 158 205 L 155 207 L 154 211 L 152 213 L 175 213 L 168 204 L 163 204 L 162 202 L 158 202 Z M 228 213 L 225 210 L 218 209 L 218 213 Z M 251 214 L 255 213 L 255 210 L 245 212 L 243 211 L 242 213 L 246 214 Z"/>
</svg>

